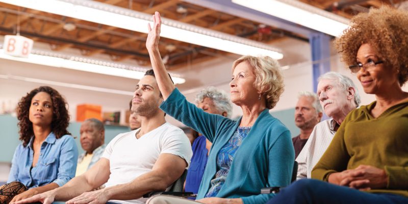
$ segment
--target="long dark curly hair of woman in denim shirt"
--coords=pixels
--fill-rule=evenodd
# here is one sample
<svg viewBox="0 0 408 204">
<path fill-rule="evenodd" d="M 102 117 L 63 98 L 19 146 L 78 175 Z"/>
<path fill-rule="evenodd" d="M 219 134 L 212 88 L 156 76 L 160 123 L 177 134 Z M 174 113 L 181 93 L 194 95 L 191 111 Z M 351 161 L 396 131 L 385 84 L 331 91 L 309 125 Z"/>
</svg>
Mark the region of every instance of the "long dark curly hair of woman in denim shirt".
<svg viewBox="0 0 408 204">
<path fill-rule="evenodd" d="M 17 107 L 17 119 L 18 126 L 20 127 L 20 140 L 25 147 L 30 142 L 31 137 L 34 135 L 33 123 L 29 119 L 31 100 L 39 92 L 46 92 L 51 96 L 53 100 L 53 120 L 51 122 L 51 130 L 55 134 L 56 138 L 61 138 L 64 135 L 71 135 L 67 131 L 69 125 L 69 114 L 65 99 L 58 93 L 57 90 L 49 86 L 40 86 L 26 96 L 21 97 Z"/>
</svg>

